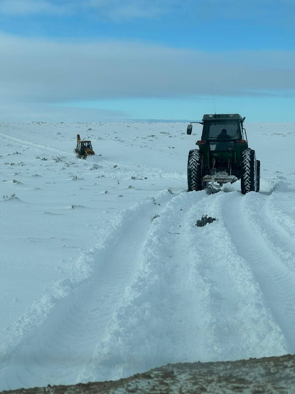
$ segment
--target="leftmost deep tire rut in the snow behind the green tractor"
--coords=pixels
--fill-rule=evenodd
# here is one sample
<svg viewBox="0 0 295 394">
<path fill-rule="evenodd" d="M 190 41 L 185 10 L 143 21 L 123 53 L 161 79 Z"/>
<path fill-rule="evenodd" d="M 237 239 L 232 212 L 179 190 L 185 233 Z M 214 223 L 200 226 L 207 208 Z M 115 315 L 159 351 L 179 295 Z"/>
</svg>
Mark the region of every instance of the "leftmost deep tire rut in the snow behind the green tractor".
<svg viewBox="0 0 295 394">
<path fill-rule="evenodd" d="M 170 198 L 166 191 L 157 201 L 165 203 Z M 52 310 L 35 332 L 8 351 L 0 390 L 76 383 L 133 280 L 151 214 L 159 209 L 148 201 L 115 217 L 119 222 L 116 228 L 111 226 L 102 246 L 86 256 L 90 267 L 84 267 L 85 259 L 81 259 L 86 278 L 81 284 L 63 281 L 63 291 L 68 295 L 58 302 L 53 300 Z M 72 291 L 70 286 L 74 287 Z"/>
</svg>

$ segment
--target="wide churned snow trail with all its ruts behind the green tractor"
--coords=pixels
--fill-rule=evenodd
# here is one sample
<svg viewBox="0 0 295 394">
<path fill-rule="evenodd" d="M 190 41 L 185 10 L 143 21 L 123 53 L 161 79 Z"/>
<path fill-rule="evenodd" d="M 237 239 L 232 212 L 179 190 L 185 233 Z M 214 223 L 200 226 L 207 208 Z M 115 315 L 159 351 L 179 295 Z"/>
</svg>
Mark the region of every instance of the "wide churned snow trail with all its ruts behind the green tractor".
<svg viewBox="0 0 295 394">
<path fill-rule="evenodd" d="M 7 353 L 1 389 L 294 351 L 294 254 L 283 262 L 274 229 L 262 231 L 269 199 L 165 191 L 123 212 L 78 260 L 85 279 L 61 282 L 44 322 Z M 217 220 L 197 227 L 203 214 Z"/>
</svg>

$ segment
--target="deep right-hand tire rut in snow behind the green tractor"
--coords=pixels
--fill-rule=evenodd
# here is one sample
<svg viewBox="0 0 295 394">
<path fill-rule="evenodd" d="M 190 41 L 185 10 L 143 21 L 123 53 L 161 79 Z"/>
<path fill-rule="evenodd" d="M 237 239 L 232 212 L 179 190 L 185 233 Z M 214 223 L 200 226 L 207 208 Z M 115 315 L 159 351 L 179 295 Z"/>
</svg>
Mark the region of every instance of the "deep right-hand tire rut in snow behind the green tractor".
<svg viewBox="0 0 295 394">
<path fill-rule="evenodd" d="M 288 352 L 295 353 L 295 259 L 276 239 L 275 220 L 269 228 L 264 215 L 266 199 L 249 193 L 241 198 L 230 196 L 223 214 L 228 231 L 239 254 L 251 267 L 271 312 L 288 342 Z M 266 200 L 266 203 L 265 203 Z M 230 218 L 230 214 L 232 217 Z M 282 238 L 281 238 L 282 239 Z M 284 240 L 285 241 L 285 240 Z M 290 244 L 288 243 L 287 246 Z"/>
</svg>

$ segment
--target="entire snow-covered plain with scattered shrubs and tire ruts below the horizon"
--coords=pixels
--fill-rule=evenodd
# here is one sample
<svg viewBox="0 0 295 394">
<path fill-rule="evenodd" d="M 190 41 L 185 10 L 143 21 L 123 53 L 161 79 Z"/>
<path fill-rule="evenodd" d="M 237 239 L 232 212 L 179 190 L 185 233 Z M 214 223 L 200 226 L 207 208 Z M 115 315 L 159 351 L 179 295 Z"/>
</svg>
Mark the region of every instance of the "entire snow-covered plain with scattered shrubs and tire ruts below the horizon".
<svg viewBox="0 0 295 394">
<path fill-rule="evenodd" d="M 0 390 L 295 353 L 295 123 L 245 127 L 260 193 L 210 195 L 201 126 L 0 123 Z"/>
</svg>

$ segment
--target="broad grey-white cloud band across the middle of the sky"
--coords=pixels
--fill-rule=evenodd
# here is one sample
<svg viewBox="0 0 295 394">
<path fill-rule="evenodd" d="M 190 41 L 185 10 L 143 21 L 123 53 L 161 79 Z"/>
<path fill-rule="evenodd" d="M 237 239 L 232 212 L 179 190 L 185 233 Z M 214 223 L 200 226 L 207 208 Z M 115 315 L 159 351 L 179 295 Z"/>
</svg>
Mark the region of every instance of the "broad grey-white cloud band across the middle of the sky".
<svg viewBox="0 0 295 394">
<path fill-rule="evenodd" d="M 120 97 L 290 95 L 294 52 L 216 52 L 139 42 L 65 43 L 0 34 L 0 103 Z M 266 93 L 264 93 L 266 92 Z"/>
</svg>

